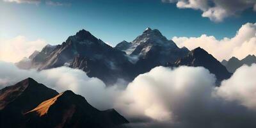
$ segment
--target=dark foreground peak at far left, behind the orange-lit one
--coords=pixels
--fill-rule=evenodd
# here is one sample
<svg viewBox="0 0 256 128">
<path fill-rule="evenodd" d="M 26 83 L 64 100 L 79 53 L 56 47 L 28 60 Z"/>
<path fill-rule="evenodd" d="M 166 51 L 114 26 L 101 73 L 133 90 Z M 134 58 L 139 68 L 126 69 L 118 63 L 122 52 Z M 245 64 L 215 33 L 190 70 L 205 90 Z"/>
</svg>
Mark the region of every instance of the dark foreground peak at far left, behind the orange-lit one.
<svg viewBox="0 0 256 128">
<path fill-rule="evenodd" d="M 58 92 L 31 78 L 3 88 L 0 90 L 0 127 L 18 127 L 24 121 L 23 113 L 55 95 Z"/>
</svg>

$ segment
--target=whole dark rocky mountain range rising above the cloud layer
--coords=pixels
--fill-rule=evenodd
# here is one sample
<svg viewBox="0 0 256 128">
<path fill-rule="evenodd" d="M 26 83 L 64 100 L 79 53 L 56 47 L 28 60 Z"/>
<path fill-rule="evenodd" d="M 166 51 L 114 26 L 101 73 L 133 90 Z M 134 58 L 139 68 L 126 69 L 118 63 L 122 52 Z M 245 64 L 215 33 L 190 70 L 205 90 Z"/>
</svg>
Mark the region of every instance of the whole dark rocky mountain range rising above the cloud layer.
<svg viewBox="0 0 256 128">
<path fill-rule="evenodd" d="M 29 67 L 24 67 L 24 63 L 29 63 Z M 189 51 L 186 47 L 179 48 L 159 30 L 150 28 L 132 42 L 123 41 L 115 47 L 82 29 L 61 45 L 46 45 L 42 51 L 35 51 L 28 60 L 17 63 L 20 68 L 37 70 L 61 66 L 79 68 L 89 77 L 99 78 L 107 86 L 115 84 L 118 79 L 131 82 L 139 74 L 157 66 L 180 65 L 208 68 L 218 81 L 231 76 L 211 54 L 200 49 Z"/>
</svg>

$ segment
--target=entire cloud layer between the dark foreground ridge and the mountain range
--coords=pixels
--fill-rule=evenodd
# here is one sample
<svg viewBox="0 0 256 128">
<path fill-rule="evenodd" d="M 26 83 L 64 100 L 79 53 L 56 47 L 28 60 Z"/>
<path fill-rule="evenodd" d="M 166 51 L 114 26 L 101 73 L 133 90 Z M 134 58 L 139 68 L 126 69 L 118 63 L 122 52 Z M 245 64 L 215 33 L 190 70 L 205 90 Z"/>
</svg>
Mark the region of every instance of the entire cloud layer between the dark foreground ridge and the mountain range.
<svg viewBox="0 0 256 128">
<path fill-rule="evenodd" d="M 250 128 L 256 127 L 255 71 L 256 65 L 241 67 L 217 88 L 215 76 L 203 67 L 156 67 L 124 88 L 120 84 L 106 87 L 78 69 L 37 72 L 1 61 L 0 85 L 33 77 L 58 92 L 83 95 L 96 108 L 117 109 L 131 121 L 127 127 Z"/>
</svg>

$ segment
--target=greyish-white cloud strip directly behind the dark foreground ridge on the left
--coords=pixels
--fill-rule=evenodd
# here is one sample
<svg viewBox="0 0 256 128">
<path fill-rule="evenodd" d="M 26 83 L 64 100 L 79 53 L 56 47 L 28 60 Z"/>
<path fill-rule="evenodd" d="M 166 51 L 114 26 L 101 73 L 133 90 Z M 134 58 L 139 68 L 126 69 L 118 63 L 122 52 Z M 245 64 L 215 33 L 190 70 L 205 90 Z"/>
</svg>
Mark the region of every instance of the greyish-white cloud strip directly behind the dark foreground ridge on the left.
<svg viewBox="0 0 256 128">
<path fill-rule="evenodd" d="M 21 70 L 13 63 L 0 61 L 0 87 L 15 84 L 28 77 L 32 77 L 38 83 L 43 83 L 58 92 L 72 90 L 83 95 L 90 104 L 98 109 L 113 108 L 114 96 L 118 95 L 118 90 L 122 88 L 122 86 L 106 88 L 100 79 L 86 76 L 83 70 L 60 67 L 37 72 L 36 70 Z"/>
</svg>

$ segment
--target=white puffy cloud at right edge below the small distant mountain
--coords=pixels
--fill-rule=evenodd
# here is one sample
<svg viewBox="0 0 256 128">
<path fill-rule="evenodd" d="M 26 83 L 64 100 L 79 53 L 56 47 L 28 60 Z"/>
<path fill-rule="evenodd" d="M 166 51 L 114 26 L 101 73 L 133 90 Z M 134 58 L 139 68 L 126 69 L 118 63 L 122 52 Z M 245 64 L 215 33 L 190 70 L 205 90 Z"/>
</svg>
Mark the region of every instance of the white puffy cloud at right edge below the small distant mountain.
<svg viewBox="0 0 256 128">
<path fill-rule="evenodd" d="M 256 64 L 251 67 L 244 65 L 238 68 L 234 75 L 221 83 L 217 94 L 229 101 L 237 101 L 240 104 L 256 110 Z"/>
</svg>

